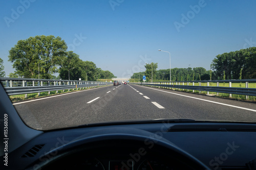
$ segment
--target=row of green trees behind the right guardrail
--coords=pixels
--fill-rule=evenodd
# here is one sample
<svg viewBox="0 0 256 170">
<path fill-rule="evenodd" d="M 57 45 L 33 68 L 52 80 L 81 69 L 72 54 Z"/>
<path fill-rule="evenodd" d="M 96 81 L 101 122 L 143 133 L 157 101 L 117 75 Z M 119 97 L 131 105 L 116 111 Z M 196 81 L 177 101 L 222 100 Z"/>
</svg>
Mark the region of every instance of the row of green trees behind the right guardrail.
<svg viewBox="0 0 256 170">
<path fill-rule="evenodd" d="M 170 70 L 157 70 L 158 63 L 145 64 L 145 72 L 136 72 L 131 79 L 146 76 L 146 81 L 170 80 Z M 198 81 L 198 80 L 230 80 L 256 78 L 256 47 L 249 47 L 239 51 L 217 55 L 210 65 L 211 69 L 203 67 L 172 68 L 172 81 Z M 152 71 L 153 69 L 153 71 Z"/>
</svg>

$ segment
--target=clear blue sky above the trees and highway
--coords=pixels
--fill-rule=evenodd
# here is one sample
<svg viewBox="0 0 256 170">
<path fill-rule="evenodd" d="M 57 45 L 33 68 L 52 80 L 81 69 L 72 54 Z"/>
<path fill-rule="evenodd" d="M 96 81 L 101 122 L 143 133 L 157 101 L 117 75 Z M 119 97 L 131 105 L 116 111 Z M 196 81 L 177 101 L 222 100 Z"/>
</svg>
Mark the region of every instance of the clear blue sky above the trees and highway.
<svg viewBox="0 0 256 170">
<path fill-rule="evenodd" d="M 117 77 L 144 69 L 141 57 L 145 56 L 147 62 L 157 62 L 158 69 L 169 68 L 168 53 L 158 49 L 171 53 L 172 68 L 208 70 L 216 55 L 256 45 L 255 7 L 252 0 L 4 0 L 0 2 L 0 58 L 9 75 L 14 72 L 9 50 L 18 40 L 54 35 L 71 48 L 81 35 L 81 42 L 76 40 L 70 50 Z M 182 14 L 189 21 L 182 20 Z M 177 29 L 178 22 L 183 27 Z"/>
</svg>

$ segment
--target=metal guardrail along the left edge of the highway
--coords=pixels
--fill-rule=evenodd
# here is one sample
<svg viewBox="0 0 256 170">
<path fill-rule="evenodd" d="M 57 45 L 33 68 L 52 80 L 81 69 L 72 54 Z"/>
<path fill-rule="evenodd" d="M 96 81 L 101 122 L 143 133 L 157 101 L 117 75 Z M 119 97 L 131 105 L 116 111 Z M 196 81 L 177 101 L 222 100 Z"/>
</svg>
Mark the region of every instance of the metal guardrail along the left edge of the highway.
<svg viewBox="0 0 256 170">
<path fill-rule="evenodd" d="M 111 85 L 112 82 L 26 79 L 26 78 L 0 78 L 8 95 L 40 93 L 48 91 L 67 90 L 75 88 L 88 88 Z"/>
</svg>

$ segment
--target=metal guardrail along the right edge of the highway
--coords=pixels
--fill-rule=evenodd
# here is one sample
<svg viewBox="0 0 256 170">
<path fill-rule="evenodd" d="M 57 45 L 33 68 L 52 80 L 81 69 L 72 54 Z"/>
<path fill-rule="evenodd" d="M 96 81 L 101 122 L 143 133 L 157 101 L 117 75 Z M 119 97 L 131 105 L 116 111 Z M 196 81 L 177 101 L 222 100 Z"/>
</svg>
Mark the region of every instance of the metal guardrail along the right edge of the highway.
<svg viewBox="0 0 256 170">
<path fill-rule="evenodd" d="M 217 83 L 217 86 L 210 86 L 209 84 Z M 229 87 L 220 87 L 220 82 L 228 82 Z M 245 82 L 245 88 L 241 87 L 232 87 L 232 82 L 240 83 Z M 246 99 L 248 99 L 248 95 L 256 96 L 256 88 L 248 88 L 249 82 L 256 82 L 256 79 L 244 79 L 244 80 L 212 80 L 212 81 L 183 81 L 183 82 L 148 82 L 148 83 L 130 83 L 130 84 L 138 84 L 138 85 L 145 85 L 145 86 L 153 86 L 153 87 L 164 87 L 169 89 L 187 89 L 187 90 L 198 90 L 200 93 L 201 91 L 209 91 L 219 93 L 229 93 L 230 97 L 232 94 L 240 94 L 246 95 Z M 180 85 L 182 83 L 182 85 Z M 186 83 L 187 85 L 184 85 Z M 188 85 L 192 83 L 193 85 Z M 199 83 L 199 86 L 195 86 L 195 83 Z M 201 86 L 201 83 L 207 83 L 207 86 Z"/>
</svg>

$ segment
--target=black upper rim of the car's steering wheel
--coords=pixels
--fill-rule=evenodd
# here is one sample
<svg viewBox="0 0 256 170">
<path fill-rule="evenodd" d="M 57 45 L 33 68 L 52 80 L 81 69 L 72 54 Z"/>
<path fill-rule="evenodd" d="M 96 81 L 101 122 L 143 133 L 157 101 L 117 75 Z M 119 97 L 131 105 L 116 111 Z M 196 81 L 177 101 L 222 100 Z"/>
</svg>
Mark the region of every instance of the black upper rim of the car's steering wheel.
<svg viewBox="0 0 256 170">
<path fill-rule="evenodd" d="M 122 149 L 125 148 L 129 152 L 133 152 L 133 149 L 135 149 L 134 151 L 137 151 L 137 153 L 133 154 L 138 155 L 143 150 L 143 153 L 153 153 L 152 155 L 160 156 L 163 159 L 162 161 L 169 162 L 173 160 L 176 167 L 209 169 L 197 158 L 181 150 L 165 138 L 151 132 L 133 128 L 106 128 L 105 130 L 84 134 L 70 143 L 48 152 L 40 160 L 49 157 L 51 159 L 47 159 L 47 161 L 37 160 L 28 169 L 31 169 L 31 167 L 34 169 L 54 169 L 72 157 L 78 157 L 80 155 L 90 157 L 97 155 L 97 153 L 99 155 L 108 155 L 115 152 L 122 152 Z M 141 155 L 139 157 L 142 158 L 143 156 Z M 65 166 L 63 167 L 65 168 Z"/>
</svg>

